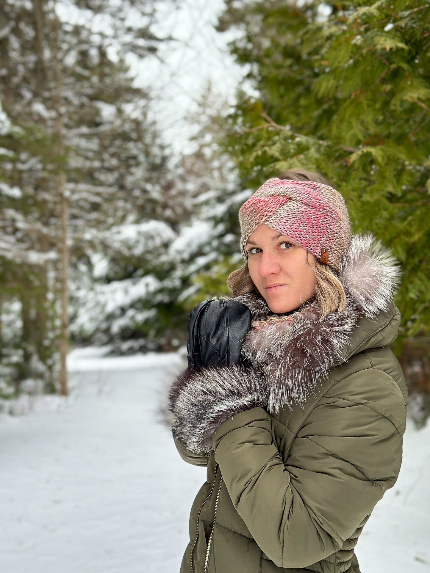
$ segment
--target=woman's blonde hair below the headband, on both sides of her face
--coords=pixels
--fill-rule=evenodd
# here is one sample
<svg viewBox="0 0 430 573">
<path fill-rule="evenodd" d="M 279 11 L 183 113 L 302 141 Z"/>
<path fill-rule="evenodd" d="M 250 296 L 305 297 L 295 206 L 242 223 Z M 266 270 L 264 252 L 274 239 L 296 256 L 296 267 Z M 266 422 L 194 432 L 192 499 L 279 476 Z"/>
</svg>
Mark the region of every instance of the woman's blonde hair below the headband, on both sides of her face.
<svg viewBox="0 0 430 573">
<path fill-rule="evenodd" d="M 309 263 L 308 263 L 309 264 Z M 315 260 L 312 266 L 315 272 L 315 294 L 313 303 L 321 311 L 320 318 L 330 315 L 332 312 L 341 312 L 346 307 L 346 296 L 342 282 L 329 266 Z M 249 274 L 248 262 L 240 269 L 233 270 L 227 279 L 227 285 L 233 296 L 247 295 L 257 288 Z"/>
</svg>

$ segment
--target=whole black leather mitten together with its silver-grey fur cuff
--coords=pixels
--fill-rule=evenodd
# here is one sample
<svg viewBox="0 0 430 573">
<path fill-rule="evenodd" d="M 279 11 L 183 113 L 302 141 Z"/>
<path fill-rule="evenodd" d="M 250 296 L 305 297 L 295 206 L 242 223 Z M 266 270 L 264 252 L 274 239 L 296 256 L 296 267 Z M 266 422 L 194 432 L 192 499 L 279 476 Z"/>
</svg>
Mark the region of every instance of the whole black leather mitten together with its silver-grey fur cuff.
<svg viewBox="0 0 430 573">
<path fill-rule="evenodd" d="M 266 403 L 263 380 L 242 357 L 251 311 L 235 300 L 206 300 L 188 322 L 188 368 L 170 388 L 173 435 L 189 452 L 210 456 L 226 419 Z"/>
</svg>

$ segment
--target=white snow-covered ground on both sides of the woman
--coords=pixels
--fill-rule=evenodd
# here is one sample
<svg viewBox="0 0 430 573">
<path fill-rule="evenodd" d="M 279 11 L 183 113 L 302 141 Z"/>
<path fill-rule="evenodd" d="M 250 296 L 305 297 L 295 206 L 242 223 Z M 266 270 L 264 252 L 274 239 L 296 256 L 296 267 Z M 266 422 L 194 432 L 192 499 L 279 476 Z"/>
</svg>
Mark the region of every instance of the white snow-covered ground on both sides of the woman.
<svg viewBox="0 0 430 573">
<path fill-rule="evenodd" d="M 176 354 L 69 362 L 67 399 L 0 416 L 0 571 L 174 573 L 205 469 L 183 462 L 159 422 Z M 363 573 L 430 570 L 430 426 L 409 424 L 397 484 L 358 542 Z"/>
</svg>

